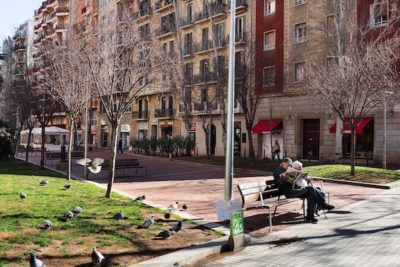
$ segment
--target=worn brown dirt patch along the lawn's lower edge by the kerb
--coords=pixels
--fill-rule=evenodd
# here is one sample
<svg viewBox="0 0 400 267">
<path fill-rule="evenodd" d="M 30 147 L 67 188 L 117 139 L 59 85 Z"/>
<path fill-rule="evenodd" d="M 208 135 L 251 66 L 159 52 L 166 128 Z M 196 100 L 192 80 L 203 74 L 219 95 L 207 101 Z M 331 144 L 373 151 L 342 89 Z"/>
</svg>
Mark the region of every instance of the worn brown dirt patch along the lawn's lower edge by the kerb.
<svg viewBox="0 0 400 267">
<path fill-rule="evenodd" d="M 167 223 L 173 225 L 176 221 Z M 106 257 L 103 266 L 127 266 L 186 247 L 199 245 L 217 237 L 213 231 L 190 224 L 184 224 L 180 232 L 166 240 L 141 236 L 140 229 L 137 228 L 121 230 L 121 233 L 126 234 L 127 232 L 130 232 L 132 236 L 137 236 L 137 238 L 129 240 L 125 244 L 111 245 L 111 241 L 108 244 L 107 240 L 99 241 L 90 236 L 75 238 L 68 242 L 53 240 L 47 247 L 36 244 L 18 244 L 3 255 L 13 260 L 5 266 L 27 266 L 30 251 L 35 252 L 47 266 L 92 266 L 90 255 L 94 246 Z M 158 233 L 158 231 L 154 232 Z"/>
</svg>

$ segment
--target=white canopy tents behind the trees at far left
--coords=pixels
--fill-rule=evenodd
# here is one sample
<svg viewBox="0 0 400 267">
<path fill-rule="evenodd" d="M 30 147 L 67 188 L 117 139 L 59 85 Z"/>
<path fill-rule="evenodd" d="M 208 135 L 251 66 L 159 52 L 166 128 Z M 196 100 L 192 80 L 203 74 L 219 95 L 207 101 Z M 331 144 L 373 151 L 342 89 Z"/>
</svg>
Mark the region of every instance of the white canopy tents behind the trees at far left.
<svg viewBox="0 0 400 267">
<path fill-rule="evenodd" d="M 27 147 L 29 130 L 21 131 L 21 146 Z M 56 126 L 45 128 L 47 151 L 60 151 L 61 145 L 68 140 L 68 130 Z M 33 128 L 31 135 L 31 147 L 40 148 L 42 143 L 42 128 Z M 68 149 L 68 148 L 67 148 Z"/>
</svg>

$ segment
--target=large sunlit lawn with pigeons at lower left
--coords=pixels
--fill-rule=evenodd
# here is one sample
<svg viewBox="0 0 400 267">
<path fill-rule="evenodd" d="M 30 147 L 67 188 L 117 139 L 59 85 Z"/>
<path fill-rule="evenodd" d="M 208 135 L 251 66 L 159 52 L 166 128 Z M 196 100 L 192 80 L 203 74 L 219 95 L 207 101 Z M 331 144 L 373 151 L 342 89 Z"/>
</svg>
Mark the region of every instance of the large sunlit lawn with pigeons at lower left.
<svg viewBox="0 0 400 267">
<path fill-rule="evenodd" d="M 48 178 L 46 186 L 39 183 Z M 167 240 L 154 237 L 169 229 L 177 219 L 165 220 L 160 210 L 105 191 L 95 185 L 68 181 L 20 161 L 0 162 L 0 266 L 28 266 L 34 251 L 47 266 L 91 266 L 93 247 L 106 256 L 107 266 L 126 266 L 217 237 L 211 230 L 189 222 Z M 27 198 L 21 199 L 20 193 Z M 83 212 L 72 220 L 62 216 L 76 206 Z M 113 216 L 123 210 L 125 218 Z M 151 215 L 150 229 L 138 226 Z M 50 220 L 52 227 L 41 229 Z"/>
</svg>

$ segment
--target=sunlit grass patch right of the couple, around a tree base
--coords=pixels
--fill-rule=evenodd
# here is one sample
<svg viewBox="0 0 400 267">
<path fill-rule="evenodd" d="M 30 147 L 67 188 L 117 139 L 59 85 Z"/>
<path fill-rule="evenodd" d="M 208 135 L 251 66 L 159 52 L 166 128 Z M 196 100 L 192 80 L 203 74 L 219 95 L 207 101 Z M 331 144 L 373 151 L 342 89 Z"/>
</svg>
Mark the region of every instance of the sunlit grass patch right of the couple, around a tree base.
<svg viewBox="0 0 400 267">
<path fill-rule="evenodd" d="M 307 166 L 304 168 L 311 176 L 324 177 L 339 180 L 350 180 L 357 182 L 367 182 L 376 184 L 387 184 L 400 179 L 399 171 L 384 170 L 380 168 L 370 168 L 356 166 L 355 176 L 350 175 L 350 166 L 341 164 L 327 164 Z"/>
</svg>

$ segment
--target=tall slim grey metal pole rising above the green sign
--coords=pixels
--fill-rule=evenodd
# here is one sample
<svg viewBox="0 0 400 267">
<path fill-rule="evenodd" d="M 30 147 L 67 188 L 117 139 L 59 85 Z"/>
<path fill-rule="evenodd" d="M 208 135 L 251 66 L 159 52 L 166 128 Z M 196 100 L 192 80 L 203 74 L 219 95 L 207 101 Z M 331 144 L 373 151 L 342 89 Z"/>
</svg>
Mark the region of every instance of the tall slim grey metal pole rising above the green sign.
<svg viewBox="0 0 400 267">
<path fill-rule="evenodd" d="M 236 0 L 231 1 L 231 21 L 229 36 L 229 81 L 228 81 L 228 110 L 227 138 L 225 156 L 225 201 L 232 200 L 233 195 L 233 107 L 235 101 L 235 12 Z"/>
</svg>

